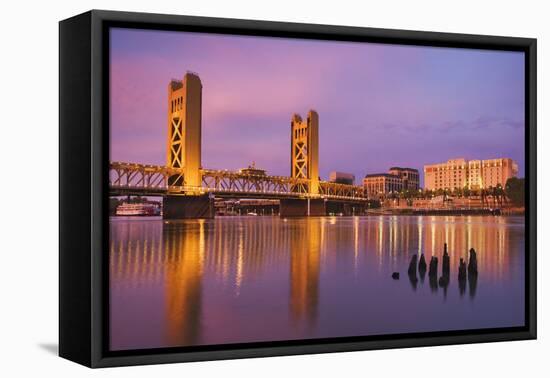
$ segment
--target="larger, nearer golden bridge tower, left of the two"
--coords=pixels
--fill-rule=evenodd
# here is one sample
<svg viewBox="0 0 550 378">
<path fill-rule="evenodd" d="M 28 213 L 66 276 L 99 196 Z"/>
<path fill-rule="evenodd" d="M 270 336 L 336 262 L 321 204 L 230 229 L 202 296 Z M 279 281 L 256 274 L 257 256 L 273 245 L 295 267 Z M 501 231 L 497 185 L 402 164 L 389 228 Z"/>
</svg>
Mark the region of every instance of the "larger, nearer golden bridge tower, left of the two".
<svg viewBox="0 0 550 378">
<path fill-rule="evenodd" d="M 187 72 L 168 84 L 168 145 L 166 165 L 181 170 L 169 185 L 200 187 L 202 83 Z"/>
</svg>

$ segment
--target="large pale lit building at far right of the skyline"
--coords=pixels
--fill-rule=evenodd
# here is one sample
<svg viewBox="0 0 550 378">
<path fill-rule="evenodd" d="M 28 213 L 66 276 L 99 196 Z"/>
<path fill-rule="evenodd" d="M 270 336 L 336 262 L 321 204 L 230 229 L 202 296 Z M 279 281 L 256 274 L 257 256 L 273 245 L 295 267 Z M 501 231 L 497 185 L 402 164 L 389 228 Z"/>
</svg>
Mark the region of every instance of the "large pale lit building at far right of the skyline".
<svg viewBox="0 0 550 378">
<path fill-rule="evenodd" d="M 504 187 L 506 181 L 517 174 L 518 166 L 510 158 L 451 159 L 446 163 L 425 165 L 424 186 L 427 190 Z"/>
</svg>

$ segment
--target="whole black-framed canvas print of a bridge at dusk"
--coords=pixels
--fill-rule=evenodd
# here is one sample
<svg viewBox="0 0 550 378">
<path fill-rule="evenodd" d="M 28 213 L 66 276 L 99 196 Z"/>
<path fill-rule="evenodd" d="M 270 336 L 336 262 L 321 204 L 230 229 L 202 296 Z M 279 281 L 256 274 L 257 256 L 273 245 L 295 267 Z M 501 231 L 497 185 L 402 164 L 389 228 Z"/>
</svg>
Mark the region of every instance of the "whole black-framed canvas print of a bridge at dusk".
<svg viewBox="0 0 550 378">
<path fill-rule="evenodd" d="M 536 40 L 60 22 L 59 353 L 536 337 Z"/>
</svg>

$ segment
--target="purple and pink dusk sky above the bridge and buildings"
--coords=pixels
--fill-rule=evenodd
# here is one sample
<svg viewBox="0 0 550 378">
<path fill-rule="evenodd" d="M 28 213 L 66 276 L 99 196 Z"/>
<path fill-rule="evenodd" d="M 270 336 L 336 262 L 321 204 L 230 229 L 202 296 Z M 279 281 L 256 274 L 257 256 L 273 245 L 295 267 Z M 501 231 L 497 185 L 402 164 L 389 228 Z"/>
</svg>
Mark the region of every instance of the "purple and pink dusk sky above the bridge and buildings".
<svg viewBox="0 0 550 378">
<path fill-rule="evenodd" d="M 166 163 L 167 86 L 203 84 L 202 165 L 290 173 L 290 118 L 319 113 L 320 174 L 511 157 L 524 174 L 519 52 L 111 30 L 111 160 Z"/>
</svg>

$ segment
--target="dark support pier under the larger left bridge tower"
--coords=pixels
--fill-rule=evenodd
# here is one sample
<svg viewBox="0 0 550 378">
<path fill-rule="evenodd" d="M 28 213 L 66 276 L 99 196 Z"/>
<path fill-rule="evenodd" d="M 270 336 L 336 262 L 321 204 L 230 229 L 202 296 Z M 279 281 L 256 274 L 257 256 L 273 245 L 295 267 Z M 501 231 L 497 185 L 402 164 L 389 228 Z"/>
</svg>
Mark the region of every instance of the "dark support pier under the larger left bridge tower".
<svg viewBox="0 0 550 378">
<path fill-rule="evenodd" d="M 200 196 L 167 195 L 162 200 L 164 219 L 214 218 L 214 199 L 208 194 Z"/>
</svg>

